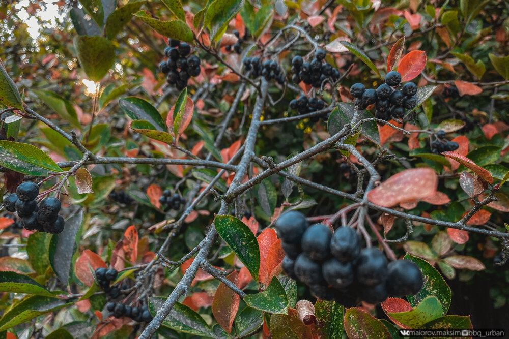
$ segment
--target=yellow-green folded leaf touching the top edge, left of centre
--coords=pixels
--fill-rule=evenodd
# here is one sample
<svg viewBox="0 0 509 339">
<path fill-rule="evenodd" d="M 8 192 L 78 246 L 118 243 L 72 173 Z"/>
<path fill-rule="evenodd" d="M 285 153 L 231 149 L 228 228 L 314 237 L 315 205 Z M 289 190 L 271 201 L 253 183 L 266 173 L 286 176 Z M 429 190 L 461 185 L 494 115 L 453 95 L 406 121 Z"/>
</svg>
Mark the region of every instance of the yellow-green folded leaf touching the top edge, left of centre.
<svg viewBox="0 0 509 339">
<path fill-rule="evenodd" d="M 244 5 L 243 0 L 214 0 L 205 12 L 204 26 L 209 28 L 211 40 L 219 40 L 224 28 Z"/>
</svg>

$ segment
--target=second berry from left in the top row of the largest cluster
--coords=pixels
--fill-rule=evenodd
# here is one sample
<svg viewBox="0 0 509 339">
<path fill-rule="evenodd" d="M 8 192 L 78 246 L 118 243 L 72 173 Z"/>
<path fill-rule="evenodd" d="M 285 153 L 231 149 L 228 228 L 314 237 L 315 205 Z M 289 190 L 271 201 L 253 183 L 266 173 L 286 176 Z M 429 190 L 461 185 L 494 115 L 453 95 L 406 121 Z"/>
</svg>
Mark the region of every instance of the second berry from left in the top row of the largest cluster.
<svg viewBox="0 0 509 339">
<path fill-rule="evenodd" d="M 309 226 L 302 235 L 302 251 L 313 260 L 324 260 L 330 253 L 331 237 L 332 232 L 328 226 L 323 224 Z"/>
</svg>

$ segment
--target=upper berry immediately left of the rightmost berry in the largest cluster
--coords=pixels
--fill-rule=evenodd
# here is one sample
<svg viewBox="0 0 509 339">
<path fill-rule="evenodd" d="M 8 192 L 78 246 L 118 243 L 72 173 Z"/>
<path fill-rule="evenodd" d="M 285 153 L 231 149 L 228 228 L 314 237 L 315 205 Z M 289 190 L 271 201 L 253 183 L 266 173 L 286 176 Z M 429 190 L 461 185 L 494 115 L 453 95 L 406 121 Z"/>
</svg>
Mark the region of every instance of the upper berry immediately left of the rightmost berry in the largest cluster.
<svg viewBox="0 0 509 339">
<path fill-rule="evenodd" d="M 366 286 L 383 283 L 387 278 L 387 258 L 377 248 L 362 249 L 355 265 L 355 274 L 359 283 Z"/>
</svg>

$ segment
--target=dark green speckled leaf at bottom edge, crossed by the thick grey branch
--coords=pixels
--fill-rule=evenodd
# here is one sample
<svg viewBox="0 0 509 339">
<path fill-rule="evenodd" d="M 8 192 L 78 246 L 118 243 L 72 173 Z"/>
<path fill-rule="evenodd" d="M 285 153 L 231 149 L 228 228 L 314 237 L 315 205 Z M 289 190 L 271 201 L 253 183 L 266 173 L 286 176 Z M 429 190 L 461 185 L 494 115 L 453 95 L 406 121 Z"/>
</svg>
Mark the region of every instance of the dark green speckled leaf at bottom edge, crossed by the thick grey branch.
<svg viewBox="0 0 509 339">
<path fill-rule="evenodd" d="M 157 313 L 157 310 L 160 309 L 165 300 L 166 298 L 163 297 L 149 298 L 149 310 L 153 316 Z M 180 302 L 175 304 L 162 324 L 179 332 L 211 338 L 215 337 L 212 328 L 207 325 L 202 316 Z"/>
</svg>

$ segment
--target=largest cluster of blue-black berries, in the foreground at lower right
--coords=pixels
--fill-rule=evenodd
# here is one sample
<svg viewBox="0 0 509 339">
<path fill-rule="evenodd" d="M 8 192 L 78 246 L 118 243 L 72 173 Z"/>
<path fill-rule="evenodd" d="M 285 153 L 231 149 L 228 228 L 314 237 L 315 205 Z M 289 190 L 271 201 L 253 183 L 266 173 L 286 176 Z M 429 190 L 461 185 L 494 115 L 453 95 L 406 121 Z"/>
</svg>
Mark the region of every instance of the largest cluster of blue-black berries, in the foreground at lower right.
<svg viewBox="0 0 509 339">
<path fill-rule="evenodd" d="M 332 233 L 323 224 L 308 226 L 305 215 L 297 211 L 281 214 L 275 227 L 286 254 L 283 270 L 308 285 L 317 298 L 353 307 L 359 300 L 375 304 L 389 295 L 415 294 L 422 287 L 415 263 L 388 264 L 380 250 L 362 249 L 360 237 L 350 227 Z"/>
</svg>

